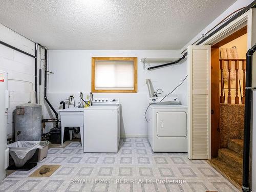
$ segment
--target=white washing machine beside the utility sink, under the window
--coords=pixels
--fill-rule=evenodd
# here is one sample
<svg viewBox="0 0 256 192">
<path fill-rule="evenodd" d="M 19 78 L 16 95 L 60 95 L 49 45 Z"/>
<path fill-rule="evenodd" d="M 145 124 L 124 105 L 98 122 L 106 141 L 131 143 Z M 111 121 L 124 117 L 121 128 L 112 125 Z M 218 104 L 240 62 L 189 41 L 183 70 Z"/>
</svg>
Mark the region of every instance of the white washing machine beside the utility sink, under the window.
<svg viewBox="0 0 256 192">
<path fill-rule="evenodd" d="M 83 111 L 83 152 L 117 153 L 119 141 L 119 99 L 94 98 Z"/>
</svg>

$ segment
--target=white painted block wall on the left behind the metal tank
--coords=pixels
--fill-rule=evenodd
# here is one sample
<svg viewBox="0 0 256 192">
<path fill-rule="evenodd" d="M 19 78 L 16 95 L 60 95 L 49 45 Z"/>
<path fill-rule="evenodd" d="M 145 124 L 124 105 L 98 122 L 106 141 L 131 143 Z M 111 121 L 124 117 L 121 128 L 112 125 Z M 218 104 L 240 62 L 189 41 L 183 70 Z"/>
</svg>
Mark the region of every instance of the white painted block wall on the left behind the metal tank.
<svg viewBox="0 0 256 192">
<path fill-rule="evenodd" d="M 18 49 L 35 54 L 35 44 L 0 24 L 0 40 Z M 0 69 L 7 71 L 10 91 L 7 136 L 11 138 L 15 126 L 15 106 L 28 101 L 35 101 L 34 96 L 34 58 L 0 45 Z"/>
</svg>

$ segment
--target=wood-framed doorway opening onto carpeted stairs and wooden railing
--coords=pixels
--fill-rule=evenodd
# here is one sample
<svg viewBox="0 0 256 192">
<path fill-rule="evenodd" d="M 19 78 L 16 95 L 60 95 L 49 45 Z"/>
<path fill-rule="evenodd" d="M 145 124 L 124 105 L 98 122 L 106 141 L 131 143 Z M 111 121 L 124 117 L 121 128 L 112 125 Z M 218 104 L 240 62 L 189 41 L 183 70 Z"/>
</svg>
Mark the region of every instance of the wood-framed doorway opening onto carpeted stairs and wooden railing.
<svg viewBox="0 0 256 192">
<path fill-rule="evenodd" d="M 210 163 L 242 185 L 247 26 L 211 46 Z"/>
</svg>

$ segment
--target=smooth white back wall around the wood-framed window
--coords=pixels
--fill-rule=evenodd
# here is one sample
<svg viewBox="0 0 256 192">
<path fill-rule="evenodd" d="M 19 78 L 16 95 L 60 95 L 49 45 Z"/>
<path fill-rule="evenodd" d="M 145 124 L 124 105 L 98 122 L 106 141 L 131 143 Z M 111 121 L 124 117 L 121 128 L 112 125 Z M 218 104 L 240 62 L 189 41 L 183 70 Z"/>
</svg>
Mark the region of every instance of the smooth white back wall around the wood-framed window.
<svg viewBox="0 0 256 192">
<path fill-rule="evenodd" d="M 92 57 L 138 57 L 138 93 L 100 94 L 94 97 L 120 98 L 121 104 L 121 135 L 122 137 L 145 137 L 146 121 L 144 112 L 147 107 L 148 90 L 145 79 L 152 80 L 154 89 L 163 89 L 165 95 L 172 91 L 187 74 L 186 63 L 162 69 L 143 71 L 141 58 L 179 58 L 179 50 L 50 50 L 48 98 L 54 108 L 60 108 L 59 102 L 69 95 L 74 95 L 76 103 L 79 92 L 89 94 L 91 91 L 91 60 Z M 187 104 L 187 81 L 175 92 L 183 104 Z M 50 110 L 45 110 L 45 118 Z M 51 116 L 54 117 L 54 116 Z M 50 124 L 50 123 L 48 123 Z M 53 124 L 48 125 L 53 126 Z"/>
</svg>

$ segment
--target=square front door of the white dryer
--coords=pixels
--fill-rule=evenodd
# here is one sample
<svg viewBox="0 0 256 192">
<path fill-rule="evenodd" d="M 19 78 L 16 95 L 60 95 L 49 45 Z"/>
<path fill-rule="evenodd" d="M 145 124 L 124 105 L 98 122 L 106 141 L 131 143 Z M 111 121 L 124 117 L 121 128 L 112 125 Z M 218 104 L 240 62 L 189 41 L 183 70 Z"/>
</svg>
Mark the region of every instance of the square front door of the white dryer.
<svg viewBox="0 0 256 192">
<path fill-rule="evenodd" d="M 185 137 L 187 135 L 186 112 L 158 112 L 157 135 L 159 137 Z"/>
</svg>

